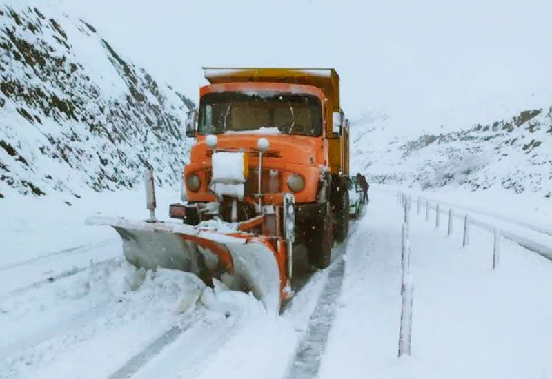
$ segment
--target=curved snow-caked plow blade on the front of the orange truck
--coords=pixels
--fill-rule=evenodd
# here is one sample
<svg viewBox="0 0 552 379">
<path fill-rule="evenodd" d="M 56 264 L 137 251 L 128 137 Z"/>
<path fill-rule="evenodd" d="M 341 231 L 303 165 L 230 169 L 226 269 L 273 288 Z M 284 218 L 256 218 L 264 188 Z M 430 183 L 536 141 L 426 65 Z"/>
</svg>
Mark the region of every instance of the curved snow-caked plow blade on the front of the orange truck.
<svg viewBox="0 0 552 379">
<path fill-rule="evenodd" d="M 86 223 L 113 227 L 126 260 L 136 267 L 192 272 L 208 285 L 217 278 L 230 289 L 251 291 L 267 311 L 279 311 L 281 270 L 264 236 L 119 217 L 90 217 Z"/>
</svg>

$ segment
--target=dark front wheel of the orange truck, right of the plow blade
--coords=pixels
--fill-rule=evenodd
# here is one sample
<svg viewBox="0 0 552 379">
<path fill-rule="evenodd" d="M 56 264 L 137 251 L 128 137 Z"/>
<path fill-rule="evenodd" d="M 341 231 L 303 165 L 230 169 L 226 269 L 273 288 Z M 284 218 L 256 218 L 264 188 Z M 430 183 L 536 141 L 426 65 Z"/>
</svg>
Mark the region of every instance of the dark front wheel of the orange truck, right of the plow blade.
<svg viewBox="0 0 552 379">
<path fill-rule="evenodd" d="M 306 247 L 311 265 L 325 269 L 332 257 L 332 222 L 330 217 L 318 218 L 308 229 Z"/>
</svg>

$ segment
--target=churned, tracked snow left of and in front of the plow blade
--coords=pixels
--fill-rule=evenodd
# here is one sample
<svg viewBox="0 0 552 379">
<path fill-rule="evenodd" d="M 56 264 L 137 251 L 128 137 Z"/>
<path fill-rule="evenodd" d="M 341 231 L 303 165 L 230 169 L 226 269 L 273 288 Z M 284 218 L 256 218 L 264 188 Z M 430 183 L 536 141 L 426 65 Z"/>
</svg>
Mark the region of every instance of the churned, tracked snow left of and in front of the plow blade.
<svg viewBox="0 0 552 379">
<path fill-rule="evenodd" d="M 178 195 L 176 188 L 158 190 L 159 208 L 168 209 Z M 284 375 L 322 273 L 275 316 L 251 294 L 221 284 L 204 290 L 192 274 L 136 269 L 124 261 L 111 227 L 84 225 L 90 214 L 148 218 L 141 191 L 90 191 L 71 207 L 55 196 L 10 199 L 0 203 L 0 214 L 17 214 L 17 223 L 0 218 L 0 239 L 10 247 L 0 254 L 1 378 L 58 378 L 60 372 L 106 378 L 175 328 L 182 331 L 174 342 L 133 377 Z M 21 203 L 14 199 L 32 200 L 33 207 L 18 214 Z M 217 222 L 201 229 L 209 225 L 220 229 Z M 67 249 L 71 245 L 83 248 Z"/>
</svg>

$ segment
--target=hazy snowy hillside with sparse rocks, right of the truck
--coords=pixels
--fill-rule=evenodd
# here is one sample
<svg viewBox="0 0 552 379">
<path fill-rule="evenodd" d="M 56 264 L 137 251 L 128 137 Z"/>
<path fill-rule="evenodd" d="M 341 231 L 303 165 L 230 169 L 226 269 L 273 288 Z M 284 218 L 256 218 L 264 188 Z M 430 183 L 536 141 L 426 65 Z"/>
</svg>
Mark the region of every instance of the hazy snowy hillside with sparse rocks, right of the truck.
<svg viewBox="0 0 552 379">
<path fill-rule="evenodd" d="M 375 183 L 420 189 L 451 185 L 468 190 L 497 186 L 551 196 L 552 97 L 509 116 L 462 114 L 431 120 L 364 118 L 352 124 L 352 167 Z M 465 109 L 465 114 L 471 110 Z M 502 114 L 504 114 L 502 110 Z"/>
</svg>

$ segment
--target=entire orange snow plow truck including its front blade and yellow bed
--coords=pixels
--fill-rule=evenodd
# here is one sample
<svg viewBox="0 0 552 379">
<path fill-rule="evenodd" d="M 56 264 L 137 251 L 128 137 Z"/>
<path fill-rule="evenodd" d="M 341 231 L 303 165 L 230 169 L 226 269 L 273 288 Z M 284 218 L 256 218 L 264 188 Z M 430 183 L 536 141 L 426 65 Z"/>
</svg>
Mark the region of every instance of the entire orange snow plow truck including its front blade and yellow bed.
<svg viewBox="0 0 552 379">
<path fill-rule="evenodd" d="M 208 285 L 250 291 L 277 312 L 292 292 L 293 249 L 311 265 L 331 263 L 348 234 L 349 130 L 334 69 L 204 68 L 199 110 L 188 113 L 195 139 L 184 167 L 182 202 L 155 219 L 91 217 L 123 240 L 130 263 L 197 274 Z"/>
</svg>

